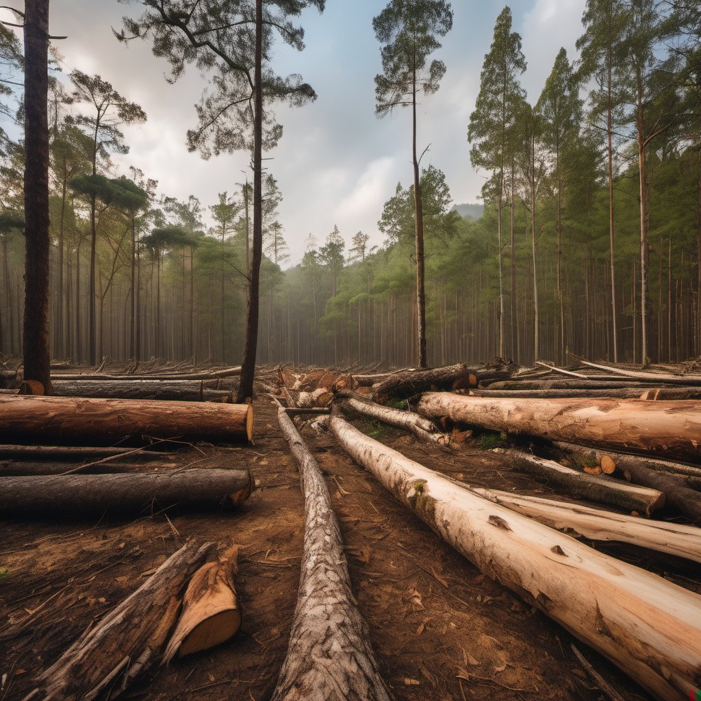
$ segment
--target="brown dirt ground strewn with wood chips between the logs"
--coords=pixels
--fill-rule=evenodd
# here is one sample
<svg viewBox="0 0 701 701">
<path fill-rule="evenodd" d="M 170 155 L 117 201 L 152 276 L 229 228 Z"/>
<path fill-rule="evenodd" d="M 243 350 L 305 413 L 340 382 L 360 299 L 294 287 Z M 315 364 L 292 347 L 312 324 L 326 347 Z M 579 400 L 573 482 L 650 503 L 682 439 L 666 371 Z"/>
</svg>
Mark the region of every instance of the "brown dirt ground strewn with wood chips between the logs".
<svg viewBox="0 0 701 701">
<path fill-rule="evenodd" d="M 271 402 L 258 401 L 255 411 L 252 447 L 198 446 L 172 456 L 182 467 L 249 468 L 257 489 L 236 512 L 1 522 L 0 570 L 8 574 L 0 579 L 0 701 L 25 697 L 37 673 L 193 536 L 242 546 L 236 577 L 242 628 L 223 646 L 156 668 L 125 697 L 270 696 L 297 598 L 303 498 Z M 479 437 L 446 454 L 372 421 L 355 423 L 455 479 L 551 493 L 531 477 L 504 470 L 498 454 L 481 449 Z M 482 576 L 348 458 L 332 435 L 309 428 L 302 433 L 325 473 L 360 612 L 397 700 L 604 698 L 574 657 L 575 641 L 564 629 Z M 596 547 L 701 591 L 699 573 L 672 556 L 633 546 Z M 650 698 L 604 658 L 578 646 L 622 697 Z"/>
</svg>

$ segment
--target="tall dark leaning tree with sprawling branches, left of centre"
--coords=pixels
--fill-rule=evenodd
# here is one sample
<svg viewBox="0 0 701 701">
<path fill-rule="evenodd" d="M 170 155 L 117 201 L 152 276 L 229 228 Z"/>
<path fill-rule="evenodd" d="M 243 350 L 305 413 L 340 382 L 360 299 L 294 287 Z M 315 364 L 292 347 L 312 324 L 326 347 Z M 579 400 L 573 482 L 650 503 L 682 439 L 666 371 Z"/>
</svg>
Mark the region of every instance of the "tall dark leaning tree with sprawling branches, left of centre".
<svg viewBox="0 0 701 701">
<path fill-rule="evenodd" d="M 246 332 L 238 401 L 253 396 L 258 342 L 260 267 L 263 257 L 263 149 L 282 135 L 269 109 L 273 102 L 299 106 L 316 93 L 297 75 L 278 76 L 271 55 L 275 32 L 304 49 L 304 29 L 290 20 L 309 7 L 323 11 L 325 0 L 213 0 L 184 11 L 179 0 L 141 0 L 145 11 L 124 19 L 120 41 L 136 36 L 153 41 L 154 55 L 170 62 L 172 80 L 188 63 L 211 76 L 212 91 L 198 105 L 198 128 L 188 132 L 191 150 L 208 158 L 239 149 L 252 151 L 253 246 L 246 307 Z M 127 34 L 128 33 L 128 34 Z"/>
</svg>

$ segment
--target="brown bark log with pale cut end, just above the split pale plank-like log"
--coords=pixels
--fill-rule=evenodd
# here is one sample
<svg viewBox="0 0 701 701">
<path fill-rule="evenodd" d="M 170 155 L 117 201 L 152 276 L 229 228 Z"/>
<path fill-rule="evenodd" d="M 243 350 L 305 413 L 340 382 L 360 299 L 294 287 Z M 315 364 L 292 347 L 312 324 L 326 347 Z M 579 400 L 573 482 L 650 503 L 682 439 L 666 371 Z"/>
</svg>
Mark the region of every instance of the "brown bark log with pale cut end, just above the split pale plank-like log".
<svg viewBox="0 0 701 701">
<path fill-rule="evenodd" d="M 522 451 L 506 452 L 510 465 L 517 470 L 546 479 L 548 484 L 599 504 L 608 504 L 624 511 L 636 511 L 650 516 L 665 505 L 665 494 L 657 489 L 635 486 L 604 475 L 587 475 L 586 472 L 566 468 L 552 460 L 545 460 Z"/>
</svg>

